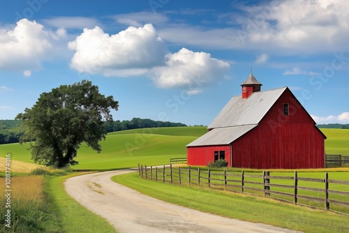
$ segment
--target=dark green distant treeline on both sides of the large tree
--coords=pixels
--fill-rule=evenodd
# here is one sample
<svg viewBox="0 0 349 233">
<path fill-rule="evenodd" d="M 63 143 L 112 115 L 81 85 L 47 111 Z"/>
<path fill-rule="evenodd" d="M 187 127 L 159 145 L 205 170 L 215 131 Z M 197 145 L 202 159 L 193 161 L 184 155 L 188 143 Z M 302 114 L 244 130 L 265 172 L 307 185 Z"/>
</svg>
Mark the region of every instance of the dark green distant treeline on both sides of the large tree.
<svg viewBox="0 0 349 233">
<path fill-rule="evenodd" d="M 23 131 L 20 129 L 21 121 L 0 120 L 0 144 L 20 142 L 20 136 Z M 134 128 L 156 128 L 156 127 L 174 127 L 186 126 L 184 123 L 173 123 L 170 121 L 153 121 L 151 119 L 133 118 L 131 121 L 114 121 L 113 123 L 104 123 L 107 133 L 131 130 Z"/>
</svg>

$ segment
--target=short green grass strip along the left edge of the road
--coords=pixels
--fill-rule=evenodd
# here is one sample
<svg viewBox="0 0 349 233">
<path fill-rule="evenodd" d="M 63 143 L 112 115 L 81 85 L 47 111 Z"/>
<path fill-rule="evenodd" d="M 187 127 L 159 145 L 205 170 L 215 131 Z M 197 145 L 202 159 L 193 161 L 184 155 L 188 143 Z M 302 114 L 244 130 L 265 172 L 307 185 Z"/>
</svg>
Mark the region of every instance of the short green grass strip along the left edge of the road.
<svg viewBox="0 0 349 233">
<path fill-rule="evenodd" d="M 81 173 L 68 174 L 67 176 L 46 176 L 45 193 L 59 214 L 62 229 L 60 232 L 117 232 L 104 218 L 87 210 L 77 203 L 64 190 L 64 181 Z"/>
</svg>

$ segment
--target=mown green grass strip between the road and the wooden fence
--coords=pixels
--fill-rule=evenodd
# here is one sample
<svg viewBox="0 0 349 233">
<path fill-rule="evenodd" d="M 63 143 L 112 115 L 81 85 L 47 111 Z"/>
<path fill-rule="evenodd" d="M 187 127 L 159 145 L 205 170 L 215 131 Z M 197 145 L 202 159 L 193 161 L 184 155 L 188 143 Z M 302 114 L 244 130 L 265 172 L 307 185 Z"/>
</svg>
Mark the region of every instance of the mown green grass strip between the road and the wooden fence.
<svg viewBox="0 0 349 233">
<path fill-rule="evenodd" d="M 191 209 L 302 232 L 349 232 L 348 216 L 284 204 L 260 197 L 205 188 L 187 188 L 141 179 L 138 173 L 112 180 L 140 193 Z"/>
</svg>

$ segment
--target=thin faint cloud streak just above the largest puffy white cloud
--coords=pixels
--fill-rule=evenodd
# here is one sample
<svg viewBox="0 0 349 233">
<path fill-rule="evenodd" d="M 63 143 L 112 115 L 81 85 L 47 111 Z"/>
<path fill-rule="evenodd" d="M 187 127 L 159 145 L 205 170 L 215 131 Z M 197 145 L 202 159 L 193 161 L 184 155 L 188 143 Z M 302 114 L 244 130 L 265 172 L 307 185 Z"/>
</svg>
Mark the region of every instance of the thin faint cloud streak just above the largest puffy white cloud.
<svg viewBox="0 0 349 233">
<path fill-rule="evenodd" d="M 66 29 L 84 29 L 101 26 L 101 22 L 92 17 L 52 17 L 43 20 L 50 27 L 66 28 Z"/>
</svg>

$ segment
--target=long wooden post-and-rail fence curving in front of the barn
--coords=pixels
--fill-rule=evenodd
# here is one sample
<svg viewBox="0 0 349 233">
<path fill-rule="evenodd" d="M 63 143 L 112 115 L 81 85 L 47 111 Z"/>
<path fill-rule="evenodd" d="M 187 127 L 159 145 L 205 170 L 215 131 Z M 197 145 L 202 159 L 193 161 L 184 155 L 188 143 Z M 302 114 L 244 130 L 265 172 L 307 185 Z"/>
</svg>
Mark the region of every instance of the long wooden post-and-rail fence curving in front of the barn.
<svg viewBox="0 0 349 233">
<path fill-rule="evenodd" d="M 179 186 L 202 186 L 252 195 L 264 195 L 284 202 L 326 209 L 349 215 L 349 181 L 300 177 L 299 172 L 280 175 L 281 172 L 212 171 L 193 167 L 147 167 L 138 165 L 144 179 L 174 183 Z M 290 173 L 289 173 L 290 174 Z M 332 186 L 334 188 L 332 188 Z M 336 189 L 336 190 L 335 190 Z"/>
</svg>

